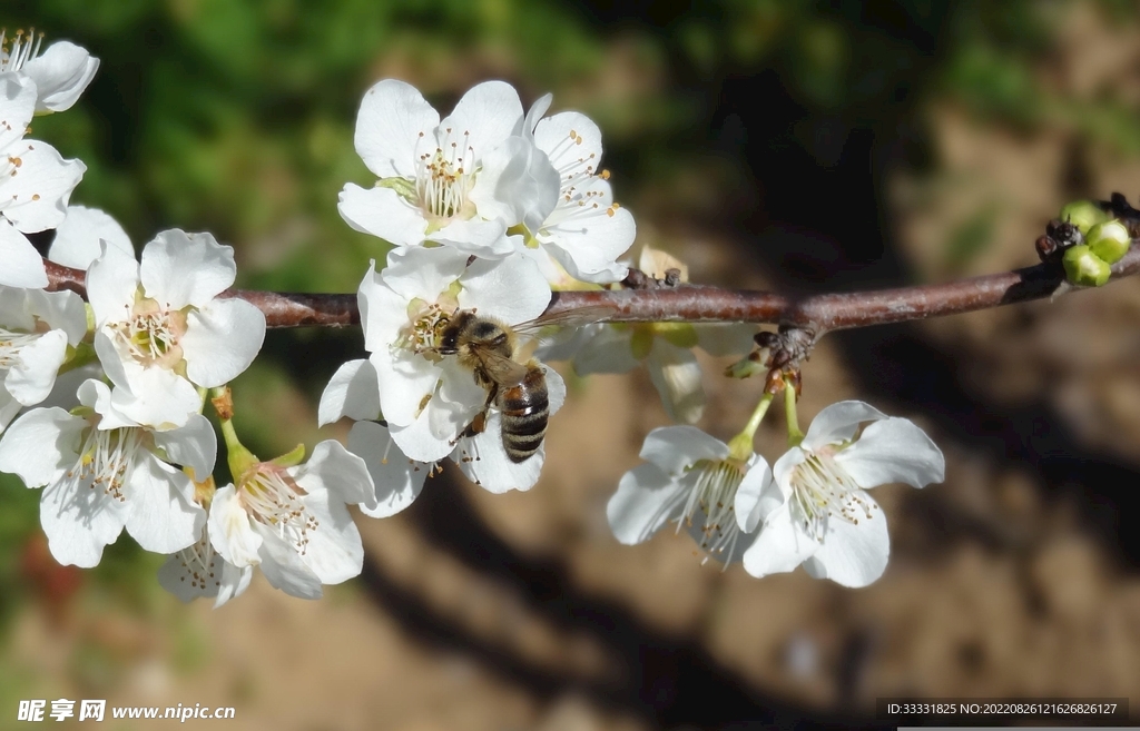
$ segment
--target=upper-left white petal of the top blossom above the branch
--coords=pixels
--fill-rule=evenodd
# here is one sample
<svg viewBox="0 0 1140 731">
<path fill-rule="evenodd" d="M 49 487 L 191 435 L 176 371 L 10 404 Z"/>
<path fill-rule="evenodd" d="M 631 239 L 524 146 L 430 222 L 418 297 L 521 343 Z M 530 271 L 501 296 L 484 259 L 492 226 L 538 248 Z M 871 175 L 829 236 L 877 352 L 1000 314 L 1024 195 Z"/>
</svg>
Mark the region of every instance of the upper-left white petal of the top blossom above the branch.
<svg viewBox="0 0 1140 731">
<path fill-rule="evenodd" d="M 357 114 L 357 155 L 377 178 L 415 180 L 416 142 L 434 132 L 439 114 L 412 84 L 385 79 L 365 92 Z"/>
</svg>

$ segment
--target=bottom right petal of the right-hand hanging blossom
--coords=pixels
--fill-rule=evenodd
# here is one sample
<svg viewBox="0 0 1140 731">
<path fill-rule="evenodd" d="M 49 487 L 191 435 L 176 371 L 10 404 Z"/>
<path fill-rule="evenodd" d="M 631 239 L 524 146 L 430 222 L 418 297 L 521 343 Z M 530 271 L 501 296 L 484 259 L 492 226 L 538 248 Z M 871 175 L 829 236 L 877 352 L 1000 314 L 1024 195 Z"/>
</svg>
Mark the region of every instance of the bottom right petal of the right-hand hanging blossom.
<svg viewBox="0 0 1140 731">
<path fill-rule="evenodd" d="M 823 545 L 804 564 L 808 574 L 852 589 L 866 586 L 882 576 L 890 553 L 887 519 L 870 495 L 863 493 L 862 498 L 871 503 L 872 517 L 857 524 L 829 519 Z"/>
</svg>

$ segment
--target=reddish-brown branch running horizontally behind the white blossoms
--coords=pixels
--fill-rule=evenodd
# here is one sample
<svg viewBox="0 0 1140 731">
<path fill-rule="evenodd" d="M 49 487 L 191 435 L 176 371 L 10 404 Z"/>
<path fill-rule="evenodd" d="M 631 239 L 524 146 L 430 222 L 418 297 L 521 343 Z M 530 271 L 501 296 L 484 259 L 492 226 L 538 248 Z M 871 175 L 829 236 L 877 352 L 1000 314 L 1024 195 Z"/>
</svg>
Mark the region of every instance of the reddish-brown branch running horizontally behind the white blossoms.
<svg viewBox="0 0 1140 731">
<path fill-rule="evenodd" d="M 49 289 L 84 295 L 83 272 L 44 262 Z M 1140 247 L 1113 266 L 1113 279 L 1140 272 Z M 583 307 L 611 307 L 608 322 L 756 322 L 795 325 L 825 330 L 921 320 L 1049 297 L 1065 281 L 1057 264 L 1039 264 L 1000 274 L 974 277 L 940 285 L 921 285 L 872 291 L 811 295 L 791 298 L 766 291 L 747 291 L 679 285 L 676 287 L 601 291 L 557 291 L 548 314 Z M 271 328 L 302 326 L 344 327 L 360 323 L 356 295 L 319 295 L 227 290 L 266 313 Z"/>
</svg>

